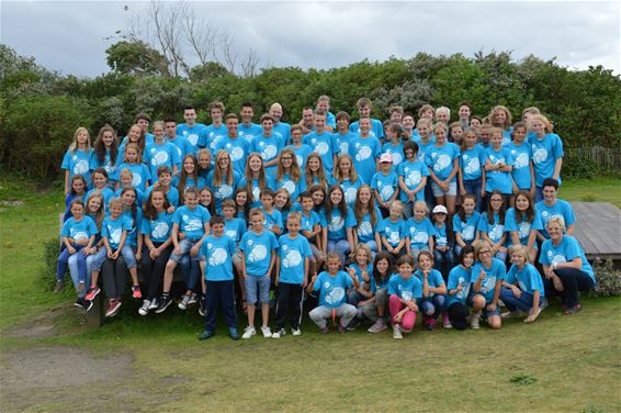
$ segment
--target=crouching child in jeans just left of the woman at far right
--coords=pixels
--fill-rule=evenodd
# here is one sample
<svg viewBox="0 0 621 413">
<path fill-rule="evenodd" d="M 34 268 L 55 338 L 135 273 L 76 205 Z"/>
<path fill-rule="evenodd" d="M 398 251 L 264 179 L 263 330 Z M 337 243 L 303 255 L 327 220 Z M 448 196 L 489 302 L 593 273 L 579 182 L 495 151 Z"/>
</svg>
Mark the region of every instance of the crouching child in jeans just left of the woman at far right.
<svg viewBox="0 0 621 413">
<path fill-rule="evenodd" d="M 543 310 L 544 289 L 541 275 L 532 264 L 523 245 L 509 248 L 513 264 L 503 281 L 500 300 L 507 305 L 508 313 L 501 317 L 521 317 L 528 314 L 524 323 L 533 323 Z"/>
</svg>

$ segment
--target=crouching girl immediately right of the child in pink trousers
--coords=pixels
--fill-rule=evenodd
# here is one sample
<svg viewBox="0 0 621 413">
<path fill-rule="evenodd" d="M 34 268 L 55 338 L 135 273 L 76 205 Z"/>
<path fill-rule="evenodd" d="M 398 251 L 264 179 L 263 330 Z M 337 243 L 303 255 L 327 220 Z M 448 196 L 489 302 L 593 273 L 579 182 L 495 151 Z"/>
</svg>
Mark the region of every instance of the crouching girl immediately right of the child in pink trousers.
<svg viewBox="0 0 621 413">
<path fill-rule="evenodd" d="M 424 250 L 418 254 L 418 270 L 414 274 L 422 283 L 422 298 L 418 302 L 422 313 L 422 325 L 436 330 L 437 319 L 444 312 L 447 286 L 442 275 L 433 269 L 433 256 Z"/>
</svg>

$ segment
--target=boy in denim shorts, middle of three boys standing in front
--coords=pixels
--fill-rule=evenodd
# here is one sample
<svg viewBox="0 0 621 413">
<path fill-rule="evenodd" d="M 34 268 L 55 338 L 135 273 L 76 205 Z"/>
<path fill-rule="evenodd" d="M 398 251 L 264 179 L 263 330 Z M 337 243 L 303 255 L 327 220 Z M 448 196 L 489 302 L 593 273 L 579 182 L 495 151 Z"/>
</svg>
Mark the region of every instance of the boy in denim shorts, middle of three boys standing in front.
<svg viewBox="0 0 621 413">
<path fill-rule="evenodd" d="M 256 334 L 255 304 L 261 303 L 263 324 L 261 333 L 269 338 L 272 332 L 268 326 L 270 316 L 270 275 L 276 260 L 278 241 L 273 233 L 266 231 L 263 211 L 255 208 L 249 213 L 251 231 L 244 234 L 239 242 L 241 250 L 241 268 L 246 283 L 248 304 L 248 326 L 241 338 L 248 339 Z"/>
</svg>

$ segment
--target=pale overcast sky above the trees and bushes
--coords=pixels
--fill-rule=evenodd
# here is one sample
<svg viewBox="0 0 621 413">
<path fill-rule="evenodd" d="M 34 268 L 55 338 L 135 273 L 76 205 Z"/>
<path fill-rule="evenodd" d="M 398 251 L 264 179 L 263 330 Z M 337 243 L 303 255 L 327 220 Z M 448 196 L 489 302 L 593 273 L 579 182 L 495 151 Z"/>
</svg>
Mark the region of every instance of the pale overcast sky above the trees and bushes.
<svg viewBox="0 0 621 413">
<path fill-rule="evenodd" d="M 128 10 L 124 10 L 127 5 Z M 620 2 L 190 2 L 195 15 L 235 35 L 241 53 L 251 46 L 262 65 L 330 68 L 369 58 L 408 58 L 477 51 L 512 51 L 569 68 L 602 65 L 621 72 Z M 0 2 L 1 42 L 64 75 L 109 71 L 106 40 L 127 29 L 134 1 Z"/>
</svg>

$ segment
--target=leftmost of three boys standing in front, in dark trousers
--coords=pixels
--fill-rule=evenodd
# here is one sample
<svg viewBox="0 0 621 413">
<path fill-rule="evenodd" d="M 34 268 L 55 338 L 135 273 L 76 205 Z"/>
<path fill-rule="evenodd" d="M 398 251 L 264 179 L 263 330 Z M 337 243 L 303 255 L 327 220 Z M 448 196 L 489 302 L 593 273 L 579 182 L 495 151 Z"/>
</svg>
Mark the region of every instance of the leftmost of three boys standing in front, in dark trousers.
<svg viewBox="0 0 621 413">
<path fill-rule="evenodd" d="M 235 242 L 224 235 L 224 220 L 221 216 L 212 216 L 210 224 L 213 235 L 207 236 L 201 247 L 201 270 L 205 277 L 207 291 L 205 331 L 199 336 L 199 339 L 207 339 L 216 334 L 218 304 L 224 311 L 229 337 L 238 339 L 232 263 Z"/>
</svg>

